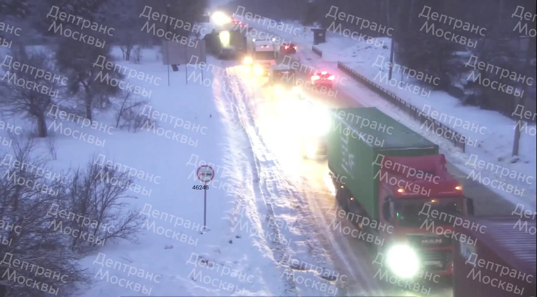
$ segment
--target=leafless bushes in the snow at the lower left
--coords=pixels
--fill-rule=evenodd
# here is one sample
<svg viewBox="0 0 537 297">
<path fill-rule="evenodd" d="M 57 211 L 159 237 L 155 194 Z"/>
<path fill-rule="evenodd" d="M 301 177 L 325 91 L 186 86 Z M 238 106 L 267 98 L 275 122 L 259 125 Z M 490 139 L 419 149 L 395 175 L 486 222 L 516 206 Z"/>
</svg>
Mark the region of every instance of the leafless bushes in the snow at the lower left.
<svg viewBox="0 0 537 297">
<path fill-rule="evenodd" d="M 48 295 L 20 283 L 20 277 L 47 284 L 59 296 L 72 296 L 77 288 L 91 285 L 91 275 L 77 264 L 87 252 L 98 248 L 98 241 L 90 238 L 98 238 L 103 245 L 113 239 L 136 242 L 142 217 L 128 205 L 128 199 L 135 198 L 128 194 L 135 180 L 116 168 L 101 167 L 94 161 L 96 155 L 73 175 L 55 172 L 47 167 L 47 158 L 33 157 L 38 153 L 32 138 L 12 137 L 12 151 L 0 153 L 6 160 L 0 164 L 0 257 L 4 259 L 0 263 L 0 296 Z M 34 172 L 35 168 L 39 169 Z M 43 172 L 54 173 L 54 177 Z M 75 220 L 71 213 L 84 220 Z M 4 228 L 6 224 L 11 227 Z M 20 265 L 24 262 L 61 277 L 36 274 Z"/>
</svg>

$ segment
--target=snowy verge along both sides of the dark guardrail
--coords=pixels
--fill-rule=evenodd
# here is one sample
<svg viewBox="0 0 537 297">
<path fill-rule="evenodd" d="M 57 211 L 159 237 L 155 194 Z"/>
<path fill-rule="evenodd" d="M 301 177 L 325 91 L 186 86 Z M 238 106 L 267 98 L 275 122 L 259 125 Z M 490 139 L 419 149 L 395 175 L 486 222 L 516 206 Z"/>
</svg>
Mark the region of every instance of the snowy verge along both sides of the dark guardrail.
<svg viewBox="0 0 537 297">
<path fill-rule="evenodd" d="M 406 100 L 419 110 L 427 112 L 429 108 L 424 109 L 424 107 L 425 105 L 428 105 L 431 106 L 431 111 L 436 110 L 439 114 L 444 113 L 448 116 L 460 118 L 462 121 L 468 121 L 471 124 L 485 127 L 480 130 L 481 133 L 471 131 L 470 129 L 462 129 L 462 127 L 455 128 L 456 131 L 463 135 L 478 140 L 477 146 L 467 145 L 466 152 L 462 153 L 451 142 L 448 142 L 442 137 L 438 137 L 434 133 L 428 132 L 426 127 L 423 127 L 421 124 L 418 124 L 417 121 L 391 106 L 388 101 L 383 100 L 380 96 L 375 100 L 371 100 L 372 98 L 362 98 L 360 95 L 364 92 L 361 87 L 362 84 L 355 82 L 341 70 L 337 69 L 337 62 L 339 61 L 370 80 L 374 80 L 375 76 L 379 74 L 379 71 L 381 71 L 381 74 L 383 75 L 386 73 L 386 68 L 380 69 L 379 66 L 373 66 L 373 64 L 382 64 L 382 61 L 384 61 L 384 63 L 389 61 L 390 39 L 379 39 L 379 42 L 383 42 L 383 47 L 374 47 L 365 42 L 339 35 L 339 33 L 327 31 L 326 43 L 315 46 L 317 49 L 322 50 L 322 58 L 320 58 L 317 55 L 312 54 L 311 46 L 313 45 L 313 33 L 311 33 L 309 27 L 303 29 L 299 23 L 295 23 L 292 28 L 292 33 L 289 33 L 288 31 L 279 31 L 276 28 L 267 29 L 268 26 L 266 24 L 256 24 L 253 21 L 248 23 L 249 26 L 258 29 L 258 32 L 274 34 L 274 36 L 280 36 L 286 41 L 292 41 L 297 44 L 299 46 L 299 53 L 297 55 L 302 57 L 300 61 L 301 64 L 320 70 L 328 70 L 336 75 L 336 80 L 344 81 L 344 84 L 339 84 L 337 88 L 348 94 L 354 94 L 355 100 L 360 102 L 361 105 L 378 107 L 384 113 L 391 115 L 423 136 L 433 140 L 433 142 L 438 143 L 441 147 L 441 151 L 447 155 L 448 160 L 467 175 L 466 179 L 474 179 L 474 177 L 470 176 L 470 173 L 475 169 L 476 172 L 481 172 L 483 178 L 481 181 L 483 184 L 488 185 L 493 191 L 510 201 L 513 205 L 521 203 L 524 204 L 527 209 L 533 209 L 534 211 L 537 209 L 537 183 L 535 182 L 535 176 L 537 174 L 537 157 L 535 154 L 537 142 L 535 135 L 529 135 L 529 133 L 525 133 L 524 131 L 521 132 L 520 157 L 511 157 L 514 136 L 513 128 L 516 127 L 517 121 L 511 120 L 502 114 L 490 110 L 462 106 L 459 104 L 458 99 L 445 92 L 431 91 L 429 98 L 427 98 L 425 96 L 400 90 L 397 87 L 391 87 L 384 82 L 380 83 L 379 78 L 375 80 L 378 85 L 397 94 L 400 98 Z M 299 29 L 295 30 L 294 28 Z M 386 58 L 382 60 L 382 57 Z M 378 58 L 379 60 L 377 61 Z M 347 79 L 343 80 L 343 77 Z M 394 78 L 397 80 L 401 79 L 397 76 L 397 73 L 394 74 Z M 409 81 L 409 83 L 412 83 L 412 81 Z M 426 89 L 426 91 L 429 90 Z M 439 117 L 437 116 L 437 118 Z M 444 122 L 444 124 L 450 128 L 453 127 L 453 122 L 451 123 L 451 126 L 448 125 L 447 122 Z M 535 129 L 535 126 L 533 126 L 533 129 Z M 481 161 L 483 166 L 480 166 L 481 164 L 473 166 L 476 159 Z M 485 168 L 489 168 L 486 167 L 489 165 L 484 165 L 488 162 L 498 166 L 495 167 L 494 172 L 485 170 Z M 496 171 L 496 168 L 514 170 L 517 174 L 520 173 L 525 175 L 527 179 L 525 181 L 520 181 L 517 180 L 516 177 L 511 179 L 509 176 L 500 176 L 502 169 Z M 507 171 L 504 170 L 504 173 L 505 172 Z M 490 180 L 498 180 L 506 185 L 511 184 L 514 187 L 518 187 L 519 190 L 524 189 L 523 195 L 516 196 L 506 190 L 497 187 L 495 188 L 494 185 L 497 185 L 498 182 L 495 182 L 494 184 L 490 183 L 493 185 L 490 186 L 484 177 L 488 177 Z"/>
</svg>

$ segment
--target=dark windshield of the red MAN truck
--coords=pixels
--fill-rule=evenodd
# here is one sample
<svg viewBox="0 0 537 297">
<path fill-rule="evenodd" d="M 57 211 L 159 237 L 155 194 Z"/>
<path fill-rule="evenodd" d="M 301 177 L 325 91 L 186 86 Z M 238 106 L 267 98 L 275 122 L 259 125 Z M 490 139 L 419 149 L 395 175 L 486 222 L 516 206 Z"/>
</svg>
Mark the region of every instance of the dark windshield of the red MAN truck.
<svg viewBox="0 0 537 297">
<path fill-rule="evenodd" d="M 438 199 L 439 201 L 434 201 L 434 199 L 427 201 L 420 200 L 416 201 L 398 201 L 396 202 L 395 212 L 399 226 L 401 227 L 415 227 L 419 228 L 422 226 L 423 222 L 426 221 L 427 225 L 430 225 L 431 222 L 434 222 L 434 226 L 438 225 L 453 225 L 453 217 L 446 216 L 446 214 L 451 214 L 452 216 L 459 216 L 462 213 L 462 202 L 459 199 L 449 199 L 446 201 L 446 198 Z M 429 208 L 425 203 L 431 205 L 431 210 L 427 211 Z M 424 206 L 425 205 L 425 206 Z M 420 214 L 420 212 L 423 213 Z M 438 211 L 438 214 L 433 216 L 427 216 L 427 213 L 431 214 L 433 210 Z M 425 214 L 424 214 L 425 213 Z M 444 213 L 444 214 L 442 214 Z M 440 217 L 440 214 L 441 217 Z M 446 216 L 446 218 L 444 217 Z"/>
</svg>

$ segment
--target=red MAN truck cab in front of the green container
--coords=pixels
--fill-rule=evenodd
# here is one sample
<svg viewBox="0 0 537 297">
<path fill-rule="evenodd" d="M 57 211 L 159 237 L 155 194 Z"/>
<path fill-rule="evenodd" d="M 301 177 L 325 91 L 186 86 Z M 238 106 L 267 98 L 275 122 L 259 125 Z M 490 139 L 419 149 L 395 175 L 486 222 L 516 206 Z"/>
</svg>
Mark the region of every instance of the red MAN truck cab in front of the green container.
<svg viewBox="0 0 537 297">
<path fill-rule="evenodd" d="M 473 213 L 471 199 L 462 194 L 461 185 L 447 171 L 444 154 L 386 156 L 383 162 L 378 183 L 379 218 L 393 226 L 393 232 L 381 234 L 386 239 L 384 245 L 403 244 L 415 251 L 419 269 L 451 276 L 452 242 L 457 240 L 452 236 L 454 219 Z"/>
</svg>

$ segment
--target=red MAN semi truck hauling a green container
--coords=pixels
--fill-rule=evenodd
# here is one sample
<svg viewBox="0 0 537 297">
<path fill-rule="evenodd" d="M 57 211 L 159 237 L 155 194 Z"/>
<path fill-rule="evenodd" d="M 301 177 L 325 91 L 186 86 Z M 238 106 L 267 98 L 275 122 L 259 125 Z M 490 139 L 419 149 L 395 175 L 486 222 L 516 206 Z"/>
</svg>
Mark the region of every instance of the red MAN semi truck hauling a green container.
<svg viewBox="0 0 537 297">
<path fill-rule="evenodd" d="M 473 202 L 447 171 L 438 145 L 374 107 L 335 109 L 332 119 L 328 168 L 347 218 L 358 215 L 358 228 L 382 239 L 378 248 L 396 276 L 412 279 L 420 269 L 451 276 L 454 239 L 446 234 L 453 222 L 438 213 L 473 214 Z M 373 228 L 372 220 L 389 227 Z M 446 234 L 435 233 L 438 227 Z"/>
</svg>

